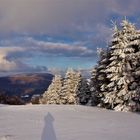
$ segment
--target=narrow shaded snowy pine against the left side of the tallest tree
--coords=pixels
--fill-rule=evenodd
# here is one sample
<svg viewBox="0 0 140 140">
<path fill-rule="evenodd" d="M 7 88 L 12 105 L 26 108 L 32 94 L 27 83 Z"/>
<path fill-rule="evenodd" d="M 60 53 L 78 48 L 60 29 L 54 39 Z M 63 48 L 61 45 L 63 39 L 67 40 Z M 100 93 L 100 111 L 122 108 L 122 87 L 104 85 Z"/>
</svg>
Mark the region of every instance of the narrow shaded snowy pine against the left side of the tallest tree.
<svg viewBox="0 0 140 140">
<path fill-rule="evenodd" d="M 110 63 L 110 52 L 106 49 L 97 48 L 99 57 L 98 65 L 91 72 L 90 91 L 92 97 L 92 105 L 101 104 L 102 92 L 106 91 L 109 83 L 105 72 L 107 65 Z"/>
</svg>

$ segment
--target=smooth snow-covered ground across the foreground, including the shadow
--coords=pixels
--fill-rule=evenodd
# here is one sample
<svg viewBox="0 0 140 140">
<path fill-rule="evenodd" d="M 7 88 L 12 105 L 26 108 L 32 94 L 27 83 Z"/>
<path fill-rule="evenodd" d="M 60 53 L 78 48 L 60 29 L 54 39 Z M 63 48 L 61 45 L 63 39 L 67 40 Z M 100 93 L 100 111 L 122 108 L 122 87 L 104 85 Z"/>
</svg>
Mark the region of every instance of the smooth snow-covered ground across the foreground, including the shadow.
<svg viewBox="0 0 140 140">
<path fill-rule="evenodd" d="M 85 106 L 0 105 L 0 140 L 140 140 L 140 114 Z"/>
</svg>

